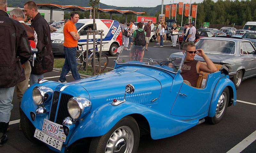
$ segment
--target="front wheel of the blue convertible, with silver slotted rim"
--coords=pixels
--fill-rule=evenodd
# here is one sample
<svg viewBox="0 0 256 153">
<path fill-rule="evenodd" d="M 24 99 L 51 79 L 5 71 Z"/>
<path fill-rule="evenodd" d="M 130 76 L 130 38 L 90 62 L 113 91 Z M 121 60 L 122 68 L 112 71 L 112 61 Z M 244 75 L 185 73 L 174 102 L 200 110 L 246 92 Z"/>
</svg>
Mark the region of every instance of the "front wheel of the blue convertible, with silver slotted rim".
<svg viewBox="0 0 256 153">
<path fill-rule="evenodd" d="M 136 153 L 139 141 L 140 131 L 136 120 L 126 116 L 105 135 L 92 138 L 89 153 Z"/>
</svg>

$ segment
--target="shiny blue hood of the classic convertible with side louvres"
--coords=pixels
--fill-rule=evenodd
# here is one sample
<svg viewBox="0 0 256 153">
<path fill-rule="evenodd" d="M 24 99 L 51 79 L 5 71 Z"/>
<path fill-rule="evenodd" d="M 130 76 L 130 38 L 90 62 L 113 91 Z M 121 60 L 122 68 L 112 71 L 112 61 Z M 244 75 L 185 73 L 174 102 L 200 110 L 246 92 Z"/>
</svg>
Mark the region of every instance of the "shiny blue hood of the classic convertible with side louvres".
<svg viewBox="0 0 256 153">
<path fill-rule="evenodd" d="M 114 69 L 108 73 L 82 79 L 76 84 L 89 93 L 94 108 L 112 102 L 113 99 L 123 100 L 127 84 L 132 84 L 135 90 L 132 94 L 126 94 L 126 101 L 142 105 L 152 103 L 151 100 L 158 98 L 161 92 L 161 84 L 158 80 L 138 73 L 137 70 Z"/>
</svg>

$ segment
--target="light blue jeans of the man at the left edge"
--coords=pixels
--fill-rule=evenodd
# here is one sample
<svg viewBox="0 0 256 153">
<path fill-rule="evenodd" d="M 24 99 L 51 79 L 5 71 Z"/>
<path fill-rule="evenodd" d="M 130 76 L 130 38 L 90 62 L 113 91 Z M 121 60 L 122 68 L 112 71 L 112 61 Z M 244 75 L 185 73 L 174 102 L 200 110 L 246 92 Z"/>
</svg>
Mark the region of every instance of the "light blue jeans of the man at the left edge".
<svg viewBox="0 0 256 153">
<path fill-rule="evenodd" d="M 0 122 L 8 123 L 10 120 L 14 88 L 0 88 Z"/>
</svg>

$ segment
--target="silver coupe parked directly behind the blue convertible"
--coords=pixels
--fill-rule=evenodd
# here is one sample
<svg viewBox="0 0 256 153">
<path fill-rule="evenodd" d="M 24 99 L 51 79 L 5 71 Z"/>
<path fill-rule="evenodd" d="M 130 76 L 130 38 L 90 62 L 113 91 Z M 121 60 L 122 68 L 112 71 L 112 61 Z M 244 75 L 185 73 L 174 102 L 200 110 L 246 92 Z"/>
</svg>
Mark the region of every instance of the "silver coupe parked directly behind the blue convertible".
<svg viewBox="0 0 256 153">
<path fill-rule="evenodd" d="M 247 78 L 256 76 L 256 50 L 249 40 L 237 37 L 210 37 L 202 38 L 196 43 L 196 48 L 204 50 L 205 54 L 216 64 L 230 64 L 232 71 L 230 79 L 236 89 Z M 182 53 L 174 53 L 172 56 L 181 57 Z M 204 61 L 198 55 L 196 60 Z"/>
</svg>

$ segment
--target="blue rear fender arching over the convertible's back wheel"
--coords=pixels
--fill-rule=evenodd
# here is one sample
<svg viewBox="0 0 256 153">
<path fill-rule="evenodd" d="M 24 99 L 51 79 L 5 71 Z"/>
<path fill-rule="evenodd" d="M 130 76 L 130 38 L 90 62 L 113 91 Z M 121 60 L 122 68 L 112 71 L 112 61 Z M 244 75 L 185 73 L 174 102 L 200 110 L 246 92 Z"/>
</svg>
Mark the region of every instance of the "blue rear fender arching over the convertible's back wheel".
<svg viewBox="0 0 256 153">
<path fill-rule="evenodd" d="M 217 106 L 219 97 L 221 95 L 221 92 L 226 87 L 229 87 L 229 91 L 231 91 L 230 88 L 233 90 L 233 99 L 234 99 L 233 105 L 234 106 L 236 105 L 236 87 L 230 79 L 228 79 L 227 77 L 222 77 L 222 78 L 220 78 L 220 80 L 216 84 L 215 89 L 214 89 L 213 94 L 212 94 L 212 100 L 211 100 L 211 104 L 210 104 L 210 108 L 209 108 L 209 114 L 208 114 L 209 117 L 214 117 L 215 116 L 216 106 Z M 232 95 L 232 94 L 229 94 L 229 95 Z M 232 97 L 229 97 L 229 98 L 232 98 Z"/>
</svg>

